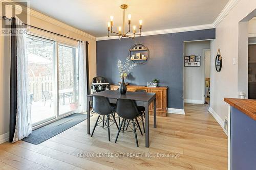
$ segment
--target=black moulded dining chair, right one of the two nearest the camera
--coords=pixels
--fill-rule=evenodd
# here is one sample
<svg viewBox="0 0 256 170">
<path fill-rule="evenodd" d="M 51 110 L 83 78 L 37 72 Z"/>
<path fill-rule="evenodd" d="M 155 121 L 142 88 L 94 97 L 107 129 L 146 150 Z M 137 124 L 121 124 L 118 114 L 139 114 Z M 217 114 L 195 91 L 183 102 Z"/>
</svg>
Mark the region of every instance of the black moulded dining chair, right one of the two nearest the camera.
<svg viewBox="0 0 256 170">
<path fill-rule="evenodd" d="M 130 127 L 130 129 L 132 130 L 130 132 L 134 132 L 136 145 L 137 147 L 139 147 L 136 129 L 139 128 L 141 135 L 143 135 L 140 128 L 140 124 L 137 119 L 139 116 L 141 116 L 142 112 L 138 111 L 135 101 L 131 99 L 117 99 L 116 113 L 118 114 L 118 116 L 120 116 L 123 119 L 122 119 L 121 125 L 119 126 L 115 143 L 117 142 L 117 138 L 119 136 L 120 131 L 121 130 L 124 131 L 124 128 L 126 125 L 130 127 L 130 124 L 128 123 L 129 121 L 129 122 L 132 122 L 133 124 L 133 127 Z M 125 122 L 127 123 L 125 124 Z"/>
</svg>

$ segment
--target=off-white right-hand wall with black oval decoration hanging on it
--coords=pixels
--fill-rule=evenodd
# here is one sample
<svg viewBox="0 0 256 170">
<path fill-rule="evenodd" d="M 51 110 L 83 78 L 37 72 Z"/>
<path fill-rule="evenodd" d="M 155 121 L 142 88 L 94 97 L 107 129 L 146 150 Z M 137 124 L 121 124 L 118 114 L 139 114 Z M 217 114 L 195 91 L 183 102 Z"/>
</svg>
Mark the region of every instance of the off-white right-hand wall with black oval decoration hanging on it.
<svg viewBox="0 0 256 170">
<path fill-rule="evenodd" d="M 212 109 L 224 122 L 228 104 L 224 98 L 238 97 L 239 22 L 256 8 L 255 0 L 240 0 L 216 27 L 216 39 L 211 42 L 211 102 Z M 222 70 L 215 70 L 215 57 L 221 50 Z M 245 56 L 246 57 L 246 56 Z M 233 64 L 233 58 L 236 63 Z"/>
</svg>

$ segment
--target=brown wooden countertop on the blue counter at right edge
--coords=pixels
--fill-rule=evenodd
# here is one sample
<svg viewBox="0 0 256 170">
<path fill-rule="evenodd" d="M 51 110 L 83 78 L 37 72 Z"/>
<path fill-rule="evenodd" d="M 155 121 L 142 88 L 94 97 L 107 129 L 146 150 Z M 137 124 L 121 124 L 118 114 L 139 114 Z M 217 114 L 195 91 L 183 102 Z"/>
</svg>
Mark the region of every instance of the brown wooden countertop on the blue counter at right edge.
<svg viewBox="0 0 256 170">
<path fill-rule="evenodd" d="M 256 120 L 256 100 L 224 98 L 224 101 Z"/>
</svg>

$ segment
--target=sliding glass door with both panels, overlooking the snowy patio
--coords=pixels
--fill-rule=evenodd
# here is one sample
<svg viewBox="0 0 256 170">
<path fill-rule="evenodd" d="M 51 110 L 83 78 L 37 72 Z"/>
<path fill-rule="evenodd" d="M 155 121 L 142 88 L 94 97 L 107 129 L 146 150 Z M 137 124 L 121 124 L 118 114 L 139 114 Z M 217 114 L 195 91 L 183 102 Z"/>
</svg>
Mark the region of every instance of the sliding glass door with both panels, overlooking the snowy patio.
<svg viewBox="0 0 256 170">
<path fill-rule="evenodd" d="M 32 125 L 78 109 L 77 48 L 27 36 Z"/>
</svg>

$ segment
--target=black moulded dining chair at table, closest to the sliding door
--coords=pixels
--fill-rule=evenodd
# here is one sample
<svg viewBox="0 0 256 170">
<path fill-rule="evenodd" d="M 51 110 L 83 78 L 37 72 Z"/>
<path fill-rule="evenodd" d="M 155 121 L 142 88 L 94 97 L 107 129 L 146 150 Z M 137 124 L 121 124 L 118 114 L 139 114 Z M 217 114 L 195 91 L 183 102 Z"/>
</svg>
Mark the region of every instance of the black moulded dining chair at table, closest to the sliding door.
<svg viewBox="0 0 256 170">
<path fill-rule="evenodd" d="M 93 136 L 96 126 L 102 126 L 102 128 L 106 127 L 106 128 L 108 128 L 108 137 L 109 137 L 109 141 L 110 141 L 110 127 L 113 124 L 116 124 L 117 129 L 119 129 L 116 119 L 115 119 L 116 108 L 115 108 L 115 106 L 110 104 L 108 99 L 106 99 L 104 96 L 101 96 L 101 95 L 93 95 L 92 101 L 93 101 L 92 109 L 95 113 L 98 113 L 99 116 L 96 120 L 96 123 L 94 125 L 93 132 L 92 132 L 91 136 Z M 105 116 L 106 116 L 106 118 L 105 118 Z M 113 121 L 112 121 L 112 118 L 113 118 Z M 106 124 L 104 124 L 104 122 Z M 102 125 L 100 125 L 101 123 L 102 123 Z"/>
</svg>

